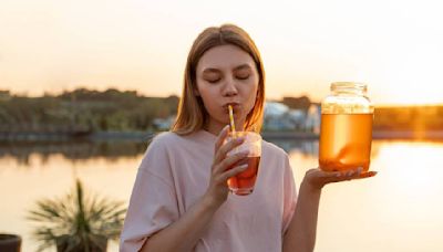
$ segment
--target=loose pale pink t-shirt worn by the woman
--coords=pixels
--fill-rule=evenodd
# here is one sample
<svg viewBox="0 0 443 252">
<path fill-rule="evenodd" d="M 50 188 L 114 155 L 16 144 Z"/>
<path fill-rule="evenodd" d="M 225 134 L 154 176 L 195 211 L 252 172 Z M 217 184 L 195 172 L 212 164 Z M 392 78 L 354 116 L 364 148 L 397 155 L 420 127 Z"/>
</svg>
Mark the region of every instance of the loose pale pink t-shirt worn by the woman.
<svg viewBox="0 0 443 252">
<path fill-rule="evenodd" d="M 178 220 L 200 199 L 209 185 L 216 138 L 198 130 L 187 136 L 163 133 L 153 139 L 138 168 L 121 251 L 138 251 L 150 235 Z M 254 192 L 229 193 L 194 251 L 281 251 L 296 199 L 288 155 L 262 140 Z"/>
</svg>

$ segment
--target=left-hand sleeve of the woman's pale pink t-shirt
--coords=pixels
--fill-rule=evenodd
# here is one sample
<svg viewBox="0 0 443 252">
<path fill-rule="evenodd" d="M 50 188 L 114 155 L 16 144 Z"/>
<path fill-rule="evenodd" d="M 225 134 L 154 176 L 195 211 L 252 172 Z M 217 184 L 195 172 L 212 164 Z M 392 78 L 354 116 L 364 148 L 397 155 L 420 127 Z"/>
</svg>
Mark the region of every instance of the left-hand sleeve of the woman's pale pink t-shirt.
<svg viewBox="0 0 443 252">
<path fill-rule="evenodd" d="M 166 144 L 154 139 L 143 157 L 121 234 L 121 252 L 138 251 L 148 237 L 178 220 Z"/>
</svg>

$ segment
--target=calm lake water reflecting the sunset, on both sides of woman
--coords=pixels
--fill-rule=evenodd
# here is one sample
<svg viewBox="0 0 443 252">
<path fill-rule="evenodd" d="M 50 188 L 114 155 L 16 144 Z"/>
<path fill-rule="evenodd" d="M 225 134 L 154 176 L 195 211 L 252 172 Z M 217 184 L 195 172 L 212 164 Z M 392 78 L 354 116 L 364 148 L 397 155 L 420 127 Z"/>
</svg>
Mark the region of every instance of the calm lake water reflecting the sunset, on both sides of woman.
<svg viewBox="0 0 443 252">
<path fill-rule="evenodd" d="M 317 141 L 276 141 L 297 185 L 317 167 Z M 27 210 L 63 196 L 79 177 L 86 190 L 127 202 L 146 146 L 135 143 L 0 145 L 0 232 L 35 251 Z M 371 179 L 323 189 L 317 252 L 443 251 L 443 143 L 374 141 Z M 116 243 L 109 251 L 117 251 Z"/>
</svg>

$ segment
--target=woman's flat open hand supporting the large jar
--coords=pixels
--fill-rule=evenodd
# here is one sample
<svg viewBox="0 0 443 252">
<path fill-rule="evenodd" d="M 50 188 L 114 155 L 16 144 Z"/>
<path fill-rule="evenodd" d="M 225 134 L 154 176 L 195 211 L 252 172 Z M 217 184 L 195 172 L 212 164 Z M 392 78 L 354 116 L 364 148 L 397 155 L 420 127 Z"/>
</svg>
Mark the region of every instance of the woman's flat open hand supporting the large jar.
<svg viewBox="0 0 443 252">
<path fill-rule="evenodd" d="M 348 171 L 323 171 L 319 168 L 310 169 L 306 172 L 305 182 L 308 182 L 316 189 L 321 189 L 331 182 L 341 182 L 354 179 L 371 178 L 377 175 L 377 171 L 362 172 L 361 168 Z"/>
</svg>

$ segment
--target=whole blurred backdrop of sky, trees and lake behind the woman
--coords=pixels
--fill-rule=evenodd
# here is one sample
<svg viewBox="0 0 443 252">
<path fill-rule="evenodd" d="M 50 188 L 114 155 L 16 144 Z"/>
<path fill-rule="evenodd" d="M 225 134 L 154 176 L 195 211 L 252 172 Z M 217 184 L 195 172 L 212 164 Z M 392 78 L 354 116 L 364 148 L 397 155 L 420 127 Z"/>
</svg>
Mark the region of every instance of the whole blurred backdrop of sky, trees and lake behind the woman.
<svg viewBox="0 0 443 252">
<path fill-rule="evenodd" d="M 367 83 L 375 105 L 379 175 L 324 189 L 316 251 L 443 251 L 440 10 L 429 0 L 1 0 L 0 232 L 35 251 L 30 211 L 76 180 L 127 207 L 148 140 L 175 118 L 194 39 L 235 23 L 261 52 L 262 135 L 289 154 L 297 185 L 318 166 L 330 83 Z"/>
</svg>

